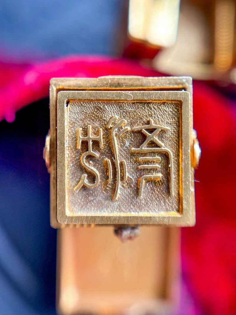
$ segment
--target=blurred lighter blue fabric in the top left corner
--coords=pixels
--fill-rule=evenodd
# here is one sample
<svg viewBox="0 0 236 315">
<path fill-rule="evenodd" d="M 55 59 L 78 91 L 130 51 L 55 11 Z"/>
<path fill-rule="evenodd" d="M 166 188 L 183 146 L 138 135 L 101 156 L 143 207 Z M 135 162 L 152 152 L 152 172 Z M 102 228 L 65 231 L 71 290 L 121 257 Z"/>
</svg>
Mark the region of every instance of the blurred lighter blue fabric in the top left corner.
<svg viewBox="0 0 236 315">
<path fill-rule="evenodd" d="M 0 55 L 116 54 L 126 0 L 1 0 Z"/>
</svg>

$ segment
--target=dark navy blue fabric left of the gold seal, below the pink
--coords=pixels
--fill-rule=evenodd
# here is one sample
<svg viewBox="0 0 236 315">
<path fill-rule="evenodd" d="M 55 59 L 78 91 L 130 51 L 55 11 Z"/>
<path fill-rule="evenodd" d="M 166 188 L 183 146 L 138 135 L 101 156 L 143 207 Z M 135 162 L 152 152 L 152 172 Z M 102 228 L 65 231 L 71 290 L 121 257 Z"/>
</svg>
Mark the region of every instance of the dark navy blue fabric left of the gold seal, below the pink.
<svg viewBox="0 0 236 315">
<path fill-rule="evenodd" d="M 56 230 L 42 159 L 48 100 L 0 123 L 0 314 L 54 314 Z"/>
</svg>

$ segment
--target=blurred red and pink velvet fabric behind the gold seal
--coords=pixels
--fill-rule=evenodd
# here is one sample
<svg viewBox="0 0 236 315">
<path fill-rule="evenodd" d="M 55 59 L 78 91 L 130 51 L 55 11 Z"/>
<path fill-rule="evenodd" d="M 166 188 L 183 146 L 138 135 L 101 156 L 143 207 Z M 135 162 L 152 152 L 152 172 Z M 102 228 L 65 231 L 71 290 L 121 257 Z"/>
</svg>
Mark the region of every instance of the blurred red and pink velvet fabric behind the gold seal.
<svg viewBox="0 0 236 315">
<path fill-rule="evenodd" d="M 0 120 L 48 97 L 51 77 L 158 76 L 131 60 L 68 57 L 33 65 L 0 64 Z M 236 110 L 194 82 L 194 128 L 202 148 L 195 172 L 197 223 L 182 229 L 183 278 L 203 314 L 236 313 Z"/>
</svg>

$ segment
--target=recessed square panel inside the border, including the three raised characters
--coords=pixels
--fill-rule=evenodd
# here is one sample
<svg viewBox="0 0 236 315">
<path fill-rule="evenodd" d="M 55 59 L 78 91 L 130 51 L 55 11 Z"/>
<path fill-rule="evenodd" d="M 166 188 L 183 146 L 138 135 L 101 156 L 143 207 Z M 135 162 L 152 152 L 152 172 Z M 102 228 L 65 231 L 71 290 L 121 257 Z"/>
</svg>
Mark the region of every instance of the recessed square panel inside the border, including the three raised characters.
<svg viewBox="0 0 236 315">
<path fill-rule="evenodd" d="M 66 215 L 178 212 L 180 111 L 179 102 L 69 102 Z"/>
</svg>

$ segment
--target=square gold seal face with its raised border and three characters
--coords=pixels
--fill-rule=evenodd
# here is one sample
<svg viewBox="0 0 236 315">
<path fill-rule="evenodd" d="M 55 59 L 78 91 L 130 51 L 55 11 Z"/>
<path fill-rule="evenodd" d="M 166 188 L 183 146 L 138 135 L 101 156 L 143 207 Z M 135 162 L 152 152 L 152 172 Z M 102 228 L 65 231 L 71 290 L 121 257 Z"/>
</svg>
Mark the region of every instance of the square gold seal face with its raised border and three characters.
<svg viewBox="0 0 236 315">
<path fill-rule="evenodd" d="M 57 219 L 192 225 L 190 95 L 61 91 Z"/>
</svg>

